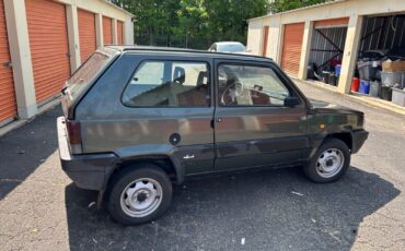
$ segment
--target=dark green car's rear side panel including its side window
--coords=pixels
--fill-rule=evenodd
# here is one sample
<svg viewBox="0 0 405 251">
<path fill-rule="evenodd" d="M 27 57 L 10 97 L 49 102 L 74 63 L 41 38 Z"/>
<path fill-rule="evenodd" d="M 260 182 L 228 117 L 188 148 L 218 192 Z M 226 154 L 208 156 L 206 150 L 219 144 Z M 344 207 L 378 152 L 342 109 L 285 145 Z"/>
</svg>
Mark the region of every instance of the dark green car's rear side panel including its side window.
<svg viewBox="0 0 405 251">
<path fill-rule="evenodd" d="M 124 55 L 82 101 L 93 109 L 80 111 L 92 118 L 81 123 L 84 151 L 114 150 L 123 158 L 170 155 L 185 175 L 211 171 L 211 64 L 210 59 L 178 53 Z M 129 75 L 123 87 L 117 72 Z"/>
</svg>

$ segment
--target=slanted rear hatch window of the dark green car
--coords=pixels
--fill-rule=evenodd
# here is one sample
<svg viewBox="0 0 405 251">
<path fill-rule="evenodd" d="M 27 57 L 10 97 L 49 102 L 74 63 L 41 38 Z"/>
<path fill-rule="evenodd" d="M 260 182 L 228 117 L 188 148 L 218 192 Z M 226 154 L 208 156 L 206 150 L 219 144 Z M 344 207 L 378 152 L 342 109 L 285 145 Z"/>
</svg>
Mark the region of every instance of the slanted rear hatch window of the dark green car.
<svg viewBox="0 0 405 251">
<path fill-rule="evenodd" d="M 78 97 L 89 86 L 90 82 L 112 60 L 114 56 L 112 52 L 106 49 L 97 50 L 73 73 L 67 82 L 66 89 L 70 99 Z"/>
</svg>

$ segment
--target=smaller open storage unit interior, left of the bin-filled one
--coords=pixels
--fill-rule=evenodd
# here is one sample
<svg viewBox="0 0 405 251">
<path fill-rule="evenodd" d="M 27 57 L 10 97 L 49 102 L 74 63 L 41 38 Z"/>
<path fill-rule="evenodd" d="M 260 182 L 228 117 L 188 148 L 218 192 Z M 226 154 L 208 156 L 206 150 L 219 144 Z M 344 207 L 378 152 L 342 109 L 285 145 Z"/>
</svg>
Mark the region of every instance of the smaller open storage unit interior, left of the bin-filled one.
<svg viewBox="0 0 405 251">
<path fill-rule="evenodd" d="M 337 85 L 347 25 L 317 25 L 313 29 L 306 77 Z"/>
</svg>

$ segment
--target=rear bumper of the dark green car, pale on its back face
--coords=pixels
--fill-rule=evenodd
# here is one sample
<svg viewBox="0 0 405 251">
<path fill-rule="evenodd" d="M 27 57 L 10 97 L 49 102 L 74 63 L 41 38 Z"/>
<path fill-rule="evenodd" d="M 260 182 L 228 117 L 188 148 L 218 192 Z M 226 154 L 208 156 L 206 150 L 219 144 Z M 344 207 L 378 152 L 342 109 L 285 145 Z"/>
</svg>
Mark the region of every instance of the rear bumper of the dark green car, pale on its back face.
<svg viewBox="0 0 405 251">
<path fill-rule="evenodd" d="M 115 154 L 70 154 L 65 118 L 57 119 L 59 157 L 63 171 L 81 189 L 102 191 L 116 164 Z"/>
</svg>

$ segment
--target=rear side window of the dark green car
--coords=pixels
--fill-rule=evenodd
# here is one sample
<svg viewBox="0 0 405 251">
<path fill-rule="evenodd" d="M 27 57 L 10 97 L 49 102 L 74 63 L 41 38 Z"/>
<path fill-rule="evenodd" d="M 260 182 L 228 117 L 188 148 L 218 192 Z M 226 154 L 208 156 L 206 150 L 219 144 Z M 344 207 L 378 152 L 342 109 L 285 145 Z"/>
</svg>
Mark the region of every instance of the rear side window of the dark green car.
<svg viewBox="0 0 405 251">
<path fill-rule="evenodd" d="M 208 64 L 186 61 L 144 61 L 123 94 L 132 107 L 210 106 Z"/>
</svg>

